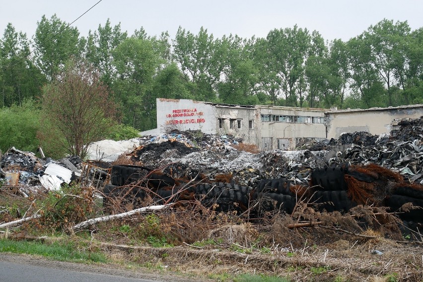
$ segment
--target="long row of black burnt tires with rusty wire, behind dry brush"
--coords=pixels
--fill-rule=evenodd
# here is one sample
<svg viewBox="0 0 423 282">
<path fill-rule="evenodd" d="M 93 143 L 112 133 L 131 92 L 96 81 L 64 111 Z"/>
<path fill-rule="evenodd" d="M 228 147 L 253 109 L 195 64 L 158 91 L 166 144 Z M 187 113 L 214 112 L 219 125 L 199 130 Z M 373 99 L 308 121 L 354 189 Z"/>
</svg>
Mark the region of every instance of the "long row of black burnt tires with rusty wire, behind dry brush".
<svg viewBox="0 0 423 282">
<path fill-rule="evenodd" d="M 388 207 L 391 212 L 401 211 L 399 216 L 408 226 L 423 224 L 422 209 L 402 209 L 411 207 L 407 203 L 423 208 L 423 186 L 409 184 L 400 174 L 375 164 L 314 169 L 308 186 L 283 177 L 265 179 L 256 187 L 249 187 L 233 181 L 208 182 L 199 176 L 174 179 L 147 167 L 115 165 L 112 184 L 103 191 L 103 204 L 114 205 L 113 199 L 120 198 L 121 204 L 141 207 L 148 196 L 155 204 L 189 201 L 216 212 L 241 214 L 251 210 L 260 216 L 263 211 L 291 214 L 301 199 L 328 212 L 347 212 L 357 205 Z"/>
</svg>

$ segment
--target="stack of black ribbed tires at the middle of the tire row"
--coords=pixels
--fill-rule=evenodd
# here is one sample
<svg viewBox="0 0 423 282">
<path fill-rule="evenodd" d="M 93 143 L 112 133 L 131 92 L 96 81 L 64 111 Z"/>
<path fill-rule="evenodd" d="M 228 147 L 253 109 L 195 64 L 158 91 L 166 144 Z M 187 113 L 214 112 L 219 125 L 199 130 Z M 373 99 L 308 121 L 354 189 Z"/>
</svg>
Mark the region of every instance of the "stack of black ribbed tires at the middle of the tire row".
<svg viewBox="0 0 423 282">
<path fill-rule="evenodd" d="M 196 185 L 197 200 L 214 211 L 243 212 L 249 206 L 249 187 L 234 183 L 201 183 Z"/>
</svg>

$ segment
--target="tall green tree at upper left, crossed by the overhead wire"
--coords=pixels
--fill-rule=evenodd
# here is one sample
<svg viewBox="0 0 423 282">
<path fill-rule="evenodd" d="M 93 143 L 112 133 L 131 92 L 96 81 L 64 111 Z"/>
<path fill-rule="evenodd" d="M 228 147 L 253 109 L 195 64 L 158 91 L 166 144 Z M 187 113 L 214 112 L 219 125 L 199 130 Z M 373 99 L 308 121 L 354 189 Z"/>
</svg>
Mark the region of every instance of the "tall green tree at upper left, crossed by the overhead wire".
<svg viewBox="0 0 423 282">
<path fill-rule="evenodd" d="M 56 14 L 50 19 L 43 15 L 37 22 L 33 38 L 35 65 L 50 80 L 71 57 L 80 57 L 79 31 L 76 27 L 67 26 Z"/>
</svg>

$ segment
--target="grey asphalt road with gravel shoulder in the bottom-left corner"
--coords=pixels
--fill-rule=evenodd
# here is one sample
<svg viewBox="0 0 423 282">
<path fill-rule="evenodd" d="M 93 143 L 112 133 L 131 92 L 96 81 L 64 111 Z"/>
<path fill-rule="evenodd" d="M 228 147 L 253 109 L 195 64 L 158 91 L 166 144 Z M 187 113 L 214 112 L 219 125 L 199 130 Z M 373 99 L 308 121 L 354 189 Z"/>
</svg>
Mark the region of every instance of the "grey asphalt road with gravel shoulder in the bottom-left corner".
<svg viewBox="0 0 423 282">
<path fill-rule="evenodd" d="M 201 282 L 171 272 L 128 270 L 122 265 L 60 262 L 44 257 L 0 253 L 0 282 Z"/>
</svg>

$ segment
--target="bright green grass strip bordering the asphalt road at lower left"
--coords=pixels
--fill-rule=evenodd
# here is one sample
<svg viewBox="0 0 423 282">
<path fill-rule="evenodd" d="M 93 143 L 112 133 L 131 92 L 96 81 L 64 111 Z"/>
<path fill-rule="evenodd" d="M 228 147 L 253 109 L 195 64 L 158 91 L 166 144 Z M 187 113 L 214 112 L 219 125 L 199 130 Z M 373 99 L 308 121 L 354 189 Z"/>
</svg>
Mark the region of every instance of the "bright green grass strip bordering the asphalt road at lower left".
<svg viewBox="0 0 423 282">
<path fill-rule="evenodd" d="M 80 249 L 73 243 L 63 242 L 45 244 L 41 242 L 0 239 L 0 252 L 39 255 L 58 261 L 107 262 L 106 256 L 100 252 L 91 251 L 88 248 Z"/>
</svg>

